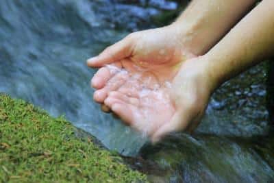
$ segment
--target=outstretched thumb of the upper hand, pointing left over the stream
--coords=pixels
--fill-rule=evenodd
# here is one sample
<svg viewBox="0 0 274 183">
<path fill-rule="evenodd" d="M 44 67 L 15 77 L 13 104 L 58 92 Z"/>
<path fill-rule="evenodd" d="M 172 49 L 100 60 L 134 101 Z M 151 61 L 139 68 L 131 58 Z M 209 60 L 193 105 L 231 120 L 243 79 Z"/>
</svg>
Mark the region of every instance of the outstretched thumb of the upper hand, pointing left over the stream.
<svg viewBox="0 0 274 183">
<path fill-rule="evenodd" d="M 132 38 L 127 36 L 106 48 L 99 56 L 87 60 L 88 66 L 99 67 L 127 58 L 132 53 Z"/>
</svg>

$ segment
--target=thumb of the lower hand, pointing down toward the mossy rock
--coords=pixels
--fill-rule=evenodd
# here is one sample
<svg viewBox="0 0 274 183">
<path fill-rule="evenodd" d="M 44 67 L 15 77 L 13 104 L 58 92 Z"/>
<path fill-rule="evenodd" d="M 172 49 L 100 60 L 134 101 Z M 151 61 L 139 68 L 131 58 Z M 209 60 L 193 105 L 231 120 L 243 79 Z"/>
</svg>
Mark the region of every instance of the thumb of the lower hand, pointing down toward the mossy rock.
<svg viewBox="0 0 274 183">
<path fill-rule="evenodd" d="M 186 113 L 185 113 L 186 114 Z M 160 127 L 151 137 L 151 142 L 158 143 L 165 135 L 186 129 L 190 117 L 182 112 L 175 112 L 171 121 Z"/>
</svg>

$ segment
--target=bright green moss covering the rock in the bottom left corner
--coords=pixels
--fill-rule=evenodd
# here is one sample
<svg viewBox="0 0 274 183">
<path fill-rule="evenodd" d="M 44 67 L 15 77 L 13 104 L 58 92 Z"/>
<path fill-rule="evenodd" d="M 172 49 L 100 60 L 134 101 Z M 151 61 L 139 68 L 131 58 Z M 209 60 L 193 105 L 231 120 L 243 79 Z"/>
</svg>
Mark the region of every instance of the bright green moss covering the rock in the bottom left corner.
<svg viewBox="0 0 274 183">
<path fill-rule="evenodd" d="M 0 182 L 145 182 L 64 118 L 0 95 Z"/>
</svg>

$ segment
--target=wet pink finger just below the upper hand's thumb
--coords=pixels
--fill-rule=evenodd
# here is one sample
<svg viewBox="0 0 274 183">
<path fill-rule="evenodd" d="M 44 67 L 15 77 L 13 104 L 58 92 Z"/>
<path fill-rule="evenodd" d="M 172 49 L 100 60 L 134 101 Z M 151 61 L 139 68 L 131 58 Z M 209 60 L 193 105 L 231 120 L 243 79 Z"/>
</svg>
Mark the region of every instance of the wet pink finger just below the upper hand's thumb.
<svg viewBox="0 0 274 183">
<path fill-rule="evenodd" d="M 104 66 L 95 73 L 91 80 L 91 86 L 96 89 L 101 89 L 116 73 L 121 71 L 121 62 L 116 62 L 113 65 Z"/>
</svg>

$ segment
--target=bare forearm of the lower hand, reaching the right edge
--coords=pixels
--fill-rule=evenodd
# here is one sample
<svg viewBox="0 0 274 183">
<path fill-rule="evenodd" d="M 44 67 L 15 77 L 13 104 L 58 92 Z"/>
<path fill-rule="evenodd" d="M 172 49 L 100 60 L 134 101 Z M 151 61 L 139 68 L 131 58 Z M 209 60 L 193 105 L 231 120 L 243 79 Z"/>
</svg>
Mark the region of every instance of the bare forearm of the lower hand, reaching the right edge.
<svg viewBox="0 0 274 183">
<path fill-rule="evenodd" d="M 273 0 L 262 1 L 204 56 L 217 86 L 273 56 L 273 12 Z"/>
</svg>

